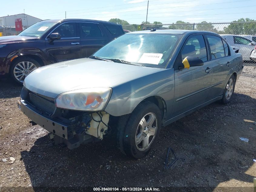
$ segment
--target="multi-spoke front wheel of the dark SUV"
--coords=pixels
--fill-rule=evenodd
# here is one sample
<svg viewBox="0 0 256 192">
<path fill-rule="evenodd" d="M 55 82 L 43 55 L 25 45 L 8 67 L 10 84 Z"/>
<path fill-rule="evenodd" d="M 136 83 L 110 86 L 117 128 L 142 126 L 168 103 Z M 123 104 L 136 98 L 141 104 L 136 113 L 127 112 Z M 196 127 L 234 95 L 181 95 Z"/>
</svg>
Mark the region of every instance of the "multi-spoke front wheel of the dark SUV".
<svg viewBox="0 0 256 192">
<path fill-rule="evenodd" d="M 15 83 L 22 85 L 25 77 L 38 67 L 40 67 L 40 64 L 35 59 L 21 57 L 13 61 L 10 67 L 10 75 Z"/>
</svg>

